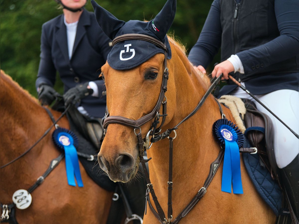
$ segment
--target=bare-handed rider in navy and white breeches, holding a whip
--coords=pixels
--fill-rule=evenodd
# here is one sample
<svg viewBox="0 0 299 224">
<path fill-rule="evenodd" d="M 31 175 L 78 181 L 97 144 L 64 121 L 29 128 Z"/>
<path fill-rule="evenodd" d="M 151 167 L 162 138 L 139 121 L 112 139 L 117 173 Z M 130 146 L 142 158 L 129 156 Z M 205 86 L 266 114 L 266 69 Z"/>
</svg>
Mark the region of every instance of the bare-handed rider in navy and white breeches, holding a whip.
<svg viewBox="0 0 299 224">
<path fill-rule="evenodd" d="M 188 59 L 205 68 L 221 47 L 221 63 L 212 77 L 228 73 L 263 102 L 297 134 L 299 131 L 299 1 L 214 0 L 198 41 Z M 254 99 L 231 80 L 220 90 Z M 298 219 L 298 139 L 265 108 L 255 102 L 274 125 L 274 155 Z"/>
</svg>

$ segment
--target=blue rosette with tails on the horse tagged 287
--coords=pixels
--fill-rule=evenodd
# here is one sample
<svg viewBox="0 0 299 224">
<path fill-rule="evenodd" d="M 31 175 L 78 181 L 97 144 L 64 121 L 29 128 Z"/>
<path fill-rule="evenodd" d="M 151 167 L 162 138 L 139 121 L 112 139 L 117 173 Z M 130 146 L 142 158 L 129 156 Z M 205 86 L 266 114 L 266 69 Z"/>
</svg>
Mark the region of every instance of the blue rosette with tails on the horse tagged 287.
<svg viewBox="0 0 299 224">
<path fill-rule="evenodd" d="M 65 153 L 65 169 L 68 179 L 68 185 L 76 186 L 75 177 L 79 187 L 83 187 L 80 173 L 79 161 L 76 147 L 78 147 L 77 136 L 66 128 L 57 128 L 53 132 L 55 144 Z"/>
</svg>

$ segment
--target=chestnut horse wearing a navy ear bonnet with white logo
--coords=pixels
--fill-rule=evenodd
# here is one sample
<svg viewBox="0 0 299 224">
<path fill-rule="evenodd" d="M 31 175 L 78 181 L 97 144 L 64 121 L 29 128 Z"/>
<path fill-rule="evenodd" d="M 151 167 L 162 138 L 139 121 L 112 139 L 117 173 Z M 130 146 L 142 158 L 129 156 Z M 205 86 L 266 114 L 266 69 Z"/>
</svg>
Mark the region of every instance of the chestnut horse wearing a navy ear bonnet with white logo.
<svg viewBox="0 0 299 224">
<path fill-rule="evenodd" d="M 93 1 L 92 4 L 100 27 L 107 36 L 114 39 L 113 45 L 115 42 L 123 41 L 128 36 L 131 38 L 129 40 L 132 40 L 135 35 L 135 39 L 140 40 L 143 38 L 146 46 L 148 39 L 152 39 L 153 35 L 158 35 L 158 32 L 155 32 L 156 29 L 159 29 L 158 31 L 161 34 L 163 29 L 161 21 L 165 21 L 164 24 L 167 24 L 167 20 L 171 16 L 174 17 L 173 10 L 167 8 L 166 5 L 168 4 L 170 7 L 176 6 L 175 1 L 168 0 L 156 18 L 147 25 L 146 22 L 140 23 L 132 20 L 124 24 L 123 21 L 117 21 L 111 14 L 105 14 L 105 10 L 102 10 Z M 158 16 L 159 18 L 157 18 Z M 106 19 L 102 20 L 102 18 Z M 105 23 L 116 25 L 110 28 Z M 123 29 L 121 25 L 123 25 Z M 144 27 L 138 30 L 138 26 L 143 25 Z M 147 29 L 152 27 L 154 30 L 147 31 Z M 157 42 L 159 40 L 161 42 L 169 27 L 164 29 L 166 31 L 161 34 L 162 38 L 156 38 Z M 132 32 L 130 29 L 134 29 L 133 31 L 135 32 L 136 30 L 141 31 L 137 34 L 130 34 Z M 140 38 L 140 34 L 147 35 L 147 37 L 142 36 Z M 210 80 L 207 76 L 199 74 L 193 69 L 182 47 L 170 37 L 168 37 L 168 42 L 171 49 L 171 59 L 167 60 L 169 71 L 167 91 L 165 92 L 167 116 L 161 133 L 175 127 L 190 114 L 210 85 Z M 123 42 L 121 43 L 120 47 L 123 47 Z M 131 55 L 137 55 L 140 45 L 134 45 L 136 42 L 132 42 L 132 45 L 128 43 L 130 41 L 125 42 L 127 45 L 124 45 L 125 47 L 127 46 L 127 52 L 129 52 L 129 47 L 134 48 L 135 52 L 134 54 L 131 53 Z M 115 47 L 116 45 L 114 45 L 115 49 L 112 48 L 110 52 L 110 61 L 108 60 L 102 67 L 102 75 L 106 83 L 107 111 L 109 114 L 107 114 L 104 122 L 106 136 L 101 145 L 98 160 L 100 167 L 109 175 L 110 179 L 128 182 L 134 177 L 139 166 L 140 144 L 138 145 L 138 143 L 140 142 L 136 135 L 139 134 L 140 128 L 142 139 L 146 139 L 146 134 L 151 129 L 154 119 L 143 123 L 139 127 L 136 124 L 141 118 L 143 119 L 154 111 L 154 108 L 158 105 L 158 99 L 161 99 L 159 96 L 161 96 L 160 92 L 163 90 L 164 81 L 162 83 L 162 79 L 165 75 L 166 66 L 164 59 L 166 53 L 156 53 L 145 62 L 129 69 L 115 69 L 113 66 L 117 65 L 114 62 L 122 54 L 122 52 L 119 53 L 118 50 L 120 48 Z M 123 52 L 125 52 L 125 49 Z M 113 55 L 116 55 L 115 58 L 112 58 Z M 120 60 L 123 61 L 123 59 Z M 130 65 L 129 63 L 132 64 L 129 60 L 122 61 L 120 63 L 127 62 L 128 66 Z M 226 118 L 234 122 L 231 112 L 224 106 L 221 107 Z M 162 107 L 159 113 L 163 115 Z M 209 174 L 210 164 L 216 159 L 221 150 L 219 143 L 216 142 L 212 134 L 213 123 L 221 118 L 219 105 L 210 94 L 202 107 L 176 130 L 177 136 L 173 139 L 173 220 L 186 208 L 204 185 Z M 170 136 L 174 138 L 174 133 L 172 132 Z M 152 147 L 147 150 L 148 158 L 152 158 L 148 162 L 150 180 L 164 214 L 167 214 L 168 208 L 169 148 L 169 141 L 165 138 L 154 142 Z M 222 192 L 221 164 L 202 200 L 181 219 L 180 223 L 274 223 L 276 216 L 255 190 L 246 173 L 242 159 L 241 172 L 244 194 Z M 155 208 L 151 196 L 150 203 Z M 167 221 L 167 223 L 171 223 L 173 220 Z M 147 214 L 144 215 L 144 223 L 159 223 L 154 213 L 150 210 L 149 204 L 147 204 Z"/>
</svg>

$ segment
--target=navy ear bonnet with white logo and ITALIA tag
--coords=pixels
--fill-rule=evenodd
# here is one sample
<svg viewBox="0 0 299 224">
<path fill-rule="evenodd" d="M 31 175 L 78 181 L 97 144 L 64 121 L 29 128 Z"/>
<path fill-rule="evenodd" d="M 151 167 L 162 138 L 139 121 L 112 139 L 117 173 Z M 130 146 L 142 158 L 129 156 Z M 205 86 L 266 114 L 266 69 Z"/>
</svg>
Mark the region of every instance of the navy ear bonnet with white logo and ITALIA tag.
<svg viewBox="0 0 299 224">
<path fill-rule="evenodd" d="M 111 40 L 128 33 L 148 35 L 166 45 L 167 59 L 171 59 L 171 50 L 166 34 L 176 14 L 176 0 L 167 0 L 155 19 L 149 22 L 139 20 L 124 22 L 103 9 L 94 0 L 91 0 L 91 4 L 98 24 Z M 144 40 L 125 40 L 112 47 L 107 61 L 112 68 L 124 70 L 142 64 L 157 53 L 164 54 L 164 50 Z"/>
</svg>

